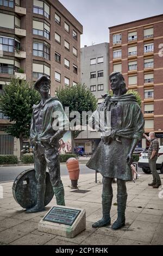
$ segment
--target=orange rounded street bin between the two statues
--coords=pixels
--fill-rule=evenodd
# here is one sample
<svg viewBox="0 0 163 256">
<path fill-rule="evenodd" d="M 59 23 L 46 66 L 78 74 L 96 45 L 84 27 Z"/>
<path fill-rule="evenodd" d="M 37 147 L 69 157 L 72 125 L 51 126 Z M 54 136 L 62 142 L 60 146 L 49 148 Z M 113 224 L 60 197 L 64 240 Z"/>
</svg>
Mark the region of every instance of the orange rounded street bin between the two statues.
<svg viewBox="0 0 163 256">
<path fill-rule="evenodd" d="M 68 173 L 70 176 L 70 180 L 78 180 L 79 179 L 79 161 L 71 157 L 70 159 L 67 160 L 66 166 L 68 169 Z"/>
</svg>

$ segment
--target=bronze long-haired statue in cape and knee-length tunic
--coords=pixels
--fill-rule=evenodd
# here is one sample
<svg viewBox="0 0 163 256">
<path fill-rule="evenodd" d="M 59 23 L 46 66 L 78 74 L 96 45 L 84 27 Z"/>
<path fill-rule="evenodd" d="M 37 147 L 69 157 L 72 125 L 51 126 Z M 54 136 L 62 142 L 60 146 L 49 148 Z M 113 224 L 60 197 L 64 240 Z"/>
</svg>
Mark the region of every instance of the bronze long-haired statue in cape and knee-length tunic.
<svg viewBox="0 0 163 256">
<path fill-rule="evenodd" d="M 122 74 L 113 72 L 109 78 L 114 95 L 107 95 L 98 106 L 97 112 L 111 112 L 111 130 L 107 136 L 102 137 L 86 166 L 98 170 L 103 176 L 103 217 L 93 223 L 92 227 L 99 228 L 111 223 L 112 180 L 117 178 L 118 218 L 111 228 L 119 229 L 125 225 L 126 181 L 132 180 L 130 164 L 136 144 L 143 135 L 144 119 L 136 97 L 126 94 L 127 88 Z"/>
</svg>

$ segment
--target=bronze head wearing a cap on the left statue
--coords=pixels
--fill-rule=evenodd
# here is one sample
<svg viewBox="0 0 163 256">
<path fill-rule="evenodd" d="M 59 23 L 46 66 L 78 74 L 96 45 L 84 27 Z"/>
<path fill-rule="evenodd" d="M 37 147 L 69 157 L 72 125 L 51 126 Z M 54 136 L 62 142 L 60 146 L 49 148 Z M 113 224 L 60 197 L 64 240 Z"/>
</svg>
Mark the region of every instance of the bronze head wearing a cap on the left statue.
<svg viewBox="0 0 163 256">
<path fill-rule="evenodd" d="M 48 96 L 50 87 L 51 80 L 47 76 L 41 76 L 34 84 L 35 90 L 37 90 L 41 96 Z"/>
</svg>

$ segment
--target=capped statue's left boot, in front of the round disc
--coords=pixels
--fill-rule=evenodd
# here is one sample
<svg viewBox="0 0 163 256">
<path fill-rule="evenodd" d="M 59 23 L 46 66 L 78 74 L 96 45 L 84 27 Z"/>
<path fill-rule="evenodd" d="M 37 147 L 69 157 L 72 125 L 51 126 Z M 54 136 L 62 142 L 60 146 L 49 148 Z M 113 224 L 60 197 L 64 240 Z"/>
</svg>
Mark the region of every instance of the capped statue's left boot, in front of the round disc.
<svg viewBox="0 0 163 256">
<path fill-rule="evenodd" d="M 33 208 L 27 209 L 26 212 L 32 213 L 37 211 L 43 211 L 45 209 L 44 198 L 45 198 L 46 185 L 37 185 L 37 202 Z"/>
</svg>

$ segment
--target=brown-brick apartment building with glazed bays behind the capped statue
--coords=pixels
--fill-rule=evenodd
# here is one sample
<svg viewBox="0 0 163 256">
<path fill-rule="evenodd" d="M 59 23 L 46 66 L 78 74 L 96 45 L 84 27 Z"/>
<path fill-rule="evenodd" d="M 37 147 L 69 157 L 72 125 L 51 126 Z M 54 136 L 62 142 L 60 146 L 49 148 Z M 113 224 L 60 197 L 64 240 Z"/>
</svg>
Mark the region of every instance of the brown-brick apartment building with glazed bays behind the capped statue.
<svg viewBox="0 0 163 256">
<path fill-rule="evenodd" d="M 51 77 L 51 95 L 59 86 L 80 82 L 83 26 L 58 0 L 0 1 L 0 93 L 13 76 L 36 81 Z M 19 143 L 6 134 L 8 117 L 0 113 L 0 155 L 19 155 Z"/>
</svg>

